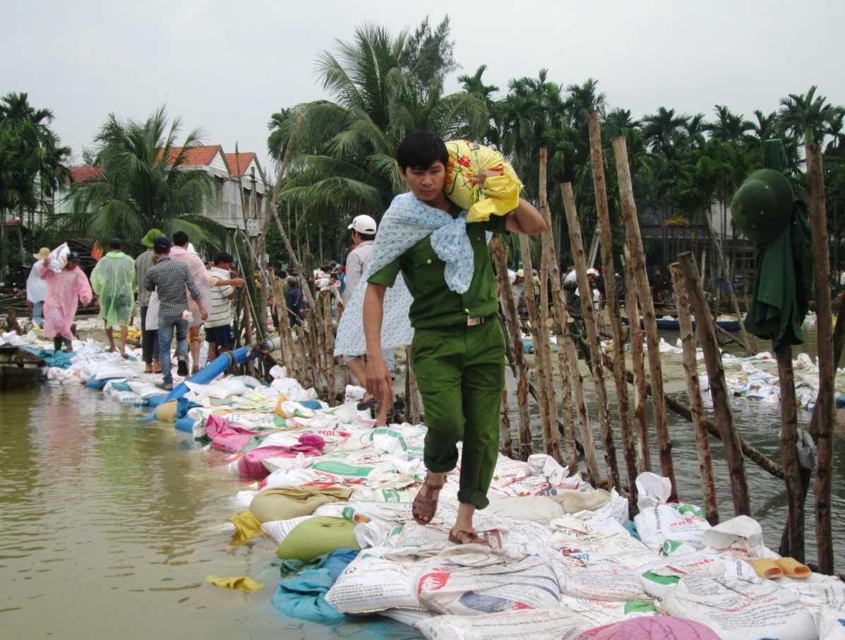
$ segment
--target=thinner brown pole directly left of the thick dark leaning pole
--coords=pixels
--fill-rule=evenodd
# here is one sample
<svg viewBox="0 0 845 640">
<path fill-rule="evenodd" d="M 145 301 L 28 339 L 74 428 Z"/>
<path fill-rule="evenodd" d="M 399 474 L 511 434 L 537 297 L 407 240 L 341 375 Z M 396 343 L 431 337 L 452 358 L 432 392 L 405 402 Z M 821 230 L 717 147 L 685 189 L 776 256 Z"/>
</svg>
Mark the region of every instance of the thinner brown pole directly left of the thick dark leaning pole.
<svg viewBox="0 0 845 640">
<path fill-rule="evenodd" d="M 675 288 L 675 304 L 678 306 L 678 323 L 681 330 L 681 345 L 684 349 L 684 370 L 687 374 L 687 392 L 690 394 L 690 413 L 695 427 L 695 453 L 698 456 L 698 470 L 701 474 L 704 513 L 707 522 L 715 526 L 719 523 L 719 503 L 716 496 L 716 483 L 713 480 L 713 458 L 704 420 L 701 385 L 698 382 L 698 365 L 695 361 L 695 335 L 692 329 L 690 299 L 687 297 L 684 277 L 681 275 L 678 263 L 670 264 L 669 269 Z"/>
</svg>

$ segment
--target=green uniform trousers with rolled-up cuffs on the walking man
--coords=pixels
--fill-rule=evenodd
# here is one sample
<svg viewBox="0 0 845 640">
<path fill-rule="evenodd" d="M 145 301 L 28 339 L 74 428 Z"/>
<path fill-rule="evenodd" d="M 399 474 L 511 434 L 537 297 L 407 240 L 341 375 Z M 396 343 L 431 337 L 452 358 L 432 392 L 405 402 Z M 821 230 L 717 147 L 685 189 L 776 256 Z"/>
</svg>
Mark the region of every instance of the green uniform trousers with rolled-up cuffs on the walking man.
<svg viewBox="0 0 845 640">
<path fill-rule="evenodd" d="M 458 463 L 458 501 L 487 507 L 499 457 L 499 405 L 504 387 L 504 329 L 498 317 L 475 327 L 416 329 L 412 365 L 423 398 L 424 462 L 434 473 Z"/>
</svg>

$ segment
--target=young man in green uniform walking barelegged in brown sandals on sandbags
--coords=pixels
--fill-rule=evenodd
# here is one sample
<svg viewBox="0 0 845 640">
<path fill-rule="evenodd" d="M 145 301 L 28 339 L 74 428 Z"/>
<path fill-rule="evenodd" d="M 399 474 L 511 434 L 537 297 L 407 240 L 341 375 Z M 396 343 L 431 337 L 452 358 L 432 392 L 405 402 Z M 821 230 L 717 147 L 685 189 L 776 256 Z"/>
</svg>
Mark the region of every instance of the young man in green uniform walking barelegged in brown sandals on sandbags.
<svg viewBox="0 0 845 640">
<path fill-rule="evenodd" d="M 401 217 L 406 222 L 401 224 L 409 228 L 417 215 L 444 220 L 433 223 L 435 227 L 466 220 L 460 207 L 444 195 L 449 155 L 443 140 L 433 133 L 412 133 L 400 144 L 396 160 L 411 194 L 397 196 L 384 214 L 373 254 L 383 247 L 389 250 L 389 239 L 379 242 L 394 209 L 402 209 Z M 493 173 L 477 176 L 477 183 L 483 186 L 488 175 Z M 546 225 L 537 209 L 520 198 L 509 214 L 459 228 L 459 235 L 468 236 L 468 241 L 461 238 L 466 243 L 466 259 L 439 258 L 444 252 L 439 249 L 439 239 L 433 240 L 441 231 L 438 227 L 371 274 L 363 302 L 363 323 L 367 388 L 380 400 L 390 399 L 393 382 L 381 355 L 380 334 L 384 292 L 401 272 L 413 298 L 409 314 L 414 328 L 412 366 L 428 426 L 424 450 L 428 475 L 412 513 L 417 523 L 431 522 L 446 473 L 458 462 L 456 445 L 462 440 L 460 507 L 450 540 L 467 544 L 479 540 L 472 519 L 476 509 L 487 507 L 489 502 L 487 491 L 498 457 L 499 400 L 504 386 L 504 329 L 497 316 L 496 281 L 486 232 L 538 235 Z M 455 271 L 466 276 L 468 286 L 455 286 Z"/>
</svg>

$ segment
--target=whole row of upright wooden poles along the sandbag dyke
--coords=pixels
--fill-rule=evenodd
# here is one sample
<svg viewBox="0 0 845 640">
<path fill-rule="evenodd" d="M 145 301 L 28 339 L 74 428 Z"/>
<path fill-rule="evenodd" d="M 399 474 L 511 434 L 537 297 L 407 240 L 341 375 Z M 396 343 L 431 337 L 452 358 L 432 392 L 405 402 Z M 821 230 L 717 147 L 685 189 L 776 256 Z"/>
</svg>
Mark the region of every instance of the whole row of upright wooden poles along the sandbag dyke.
<svg viewBox="0 0 845 640">
<path fill-rule="evenodd" d="M 624 138 L 612 140 L 615 168 L 622 203 L 622 219 L 625 231 L 625 274 L 626 296 L 624 306 L 630 318 L 630 369 L 626 362 L 624 348 L 625 333 L 621 320 L 622 301 L 617 296 L 617 274 L 613 268 L 612 236 L 608 209 L 608 195 L 605 185 L 605 161 L 598 114 L 590 114 L 590 145 L 593 185 L 596 193 L 597 224 L 600 231 L 602 272 L 605 280 L 605 295 L 608 317 L 612 332 L 613 349 L 610 357 L 602 354 L 599 324 L 593 311 L 590 285 L 586 276 L 586 254 L 581 240 L 581 225 L 575 208 L 575 198 L 569 183 L 560 186 L 564 213 L 569 227 L 570 247 L 574 257 L 575 273 L 581 309 L 586 323 L 586 343 L 590 350 L 592 388 L 595 396 L 598 431 L 594 433 L 595 420 L 590 415 L 586 400 L 585 381 L 578 368 L 575 342 L 570 339 L 572 319 L 568 313 L 561 288 L 559 260 L 555 255 L 552 236 L 551 215 L 546 193 L 546 150 L 541 150 L 538 209 L 547 223 L 542 235 L 540 252 L 540 300 L 526 296 L 528 322 L 534 346 L 534 372 L 537 383 L 529 379 L 529 364 L 523 350 L 520 318 L 515 308 L 515 299 L 508 278 L 507 257 L 498 239 L 491 242 L 493 263 L 499 284 L 499 299 L 504 326 L 509 337 L 507 359 L 516 382 L 517 421 L 511 428 L 507 391 L 503 389 L 501 420 L 501 451 L 510 457 L 526 459 L 533 452 L 535 434 L 529 414 L 529 397 L 535 399 L 540 415 L 540 440 L 542 450 L 556 460 L 565 463 L 570 473 L 579 469 L 579 450 L 583 452 L 586 478 L 594 486 L 613 487 L 630 501 L 630 513 L 636 513 L 637 490 L 635 478 L 643 471 L 651 471 L 651 431 L 657 451 L 659 473 L 671 482 L 670 501 L 678 499 L 675 470 L 672 455 L 672 441 L 669 437 L 667 409 L 684 415 L 691 420 L 695 430 L 696 453 L 701 473 L 702 498 L 706 518 L 712 524 L 719 521 L 716 480 L 713 476 L 710 437 L 722 442 L 728 464 L 728 482 L 733 500 L 734 515 L 750 515 L 750 496 L 744 466 L 745 458 L 761 469 L 785 482 L 788 494 L 788 522 L 786 523 L 780 553 L 804 561 L 804 496 L 810 486 L 810 470 L 799 466 L 796 451 L 798 437 L 797 409 L 792 372 L 792 350 L 776 350 L 780 387 L 782 394 L 782 464 L 766 458 L 755 447 L 739 437 L 733 421 L 728 388 L 722 368 L 721 353 L 717 341 L 717 326 L 707 306 L 706 296 L 695 256 L 691 252 L 681 253 L 678 262 L 670 267 L 673 287 L 677 298 L 681 342 L 683 346 L 684 370 L 690 405 L 681 404 L 663 390 L 662 364 L 657 334 L 657 316 L 651 299 L 651 290 L 646 274 L 640 226 L 637 219 L 635 198 L 631 186 L 630 166 Z M 294 135 L 296 128 L 294 129 Z M 290 149 L 291 145 L 288 145 Z M 845 323 L 837 326 L 837 344 L 831 334 L 831 300 L 826 290 L 829 274 L 826 247 L 826 209 L 824 185 L 821 180 L 820 151 L 818 147 L 807 148 L 807 165 L 810 178 L 810 227 L 814 245 L 814 269 L 816 289 L 816 311 L 818 315 L 819 353 L 819 396 L 810 433 L 818 449 L 818 464 L 815 469 L 815 533 L 818 548 L 818 570 L 833 572 L 833 550 L 831 543 L 831 462 L 833 421 L 833 373 L 834 362 L 838 361 L 845 341 Z M 284 171 L 282 165 L 280 176 Z M 278 181 L 277 181 L 278 182 Z M 308 281 L 308 270 L 296 258 L 296 252 L 286 235 L 276 213 L 274 193 L 270 203 L 270 220 L 277 228 L 292 256 L 293 267 L 300 275 L 305 308 L 303 327 L 292 331 L 281 330 L 281 361 L 289 375 L 297 377 L 303 385 L 313 386 L 319 393 L 334 403 L 341 397 L 338 382 L 349 382 L 348 372 L 341 369 L 333 355 L 336 321 L 333 316 L 330 294 L 312 292 L 313 283 Z M 266 226 L 265 226 L 266 231 Z M 263 236 L 262 236 L 263 237 Z M 528 239 L 520 236 L 522 268 L 532 273 L 532 258 Z M 262 252 L 259 251 L 259 255 Z M 275 287 L 275 283 L 271 282 Z M 529 283 L 530 285 L 530 283 Z M 269 293 L 269 292 L 268 292 Z M 273 290 L 277 301 L 283 300 L 281 291 Z M 842 310 L 841 310 L 842 312 Z M 283 314 L 280 314 L 283 316 Z M 637 322 L 643 317 L 643 327 Z M 695 317 L 695 331 L 692 320 Z M 333 319 L 335 322 L 333 322 Z M 284 326 L 286 323 L 281 320 Z M 842 328 L 842 332 L 839 329 Z M 557 335 L 557 362 L 553 360 L 551 334 Z M 715 414 L 715 420 L 705 415 L 699 386 L 696 364 L 696 343 L 701 345 Z M 837 346 L 837 349 L 834 349 Z M 406 358 L 410 362 L 410 357 Z M 647 361 L 647 364 L 646 364 Z M 647 372 L 646 372 L 647 366 Z M 608 377 L 613 377 L 616 392 L 617 420 L 611 416 L 608 403 Z M 630 385 L 634 390 L 633 401 Z M 647 399 L 651 397 L 651 425 L 647 419 Z M 413 372 L 407 367 L 404 393 L 404 413 L 401 418 L 416 424 L 421 419 L 419 399 Z M 563 436 L 563 447 L 560 437 Z M 598 440 L 598 442 L 596 442 Z M 619 472 L 617 440 L 622 448 L 623 478 Z M 598 444 L 598 447 L 597 447 Z M 603 453 L 603 469 L 599 464 L 597 449 Z"/>
</svg>

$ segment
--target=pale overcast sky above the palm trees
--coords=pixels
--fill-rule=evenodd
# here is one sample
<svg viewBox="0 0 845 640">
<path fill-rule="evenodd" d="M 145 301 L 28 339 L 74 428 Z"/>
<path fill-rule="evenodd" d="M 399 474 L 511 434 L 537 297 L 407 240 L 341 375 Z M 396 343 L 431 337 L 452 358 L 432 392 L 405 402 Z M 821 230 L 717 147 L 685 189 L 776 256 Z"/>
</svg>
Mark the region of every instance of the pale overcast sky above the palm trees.
<svg viewBox="0 0 845 640">
<path fill-rule="evenodd" d="M 183 135 L 255 151 L 267 167 L 267 122 L 281 107 L 328 98 L 314 72 L 321 51 L 357 25 L 413 30 L 450 18 L 457 75 L 598 80 L 608 106 L 633 117 L 660 106 L 704 113 L 726 105 L 753 117 L 779 100 L 817 94 L 845 105 L 842 0 L 0 0 L 0 95 L 29 94 L 81 161 L 109 113 L 144 120 L 166 105 Z M 183 136 L 179 138 L 181 141 Z"/>
</svg>

